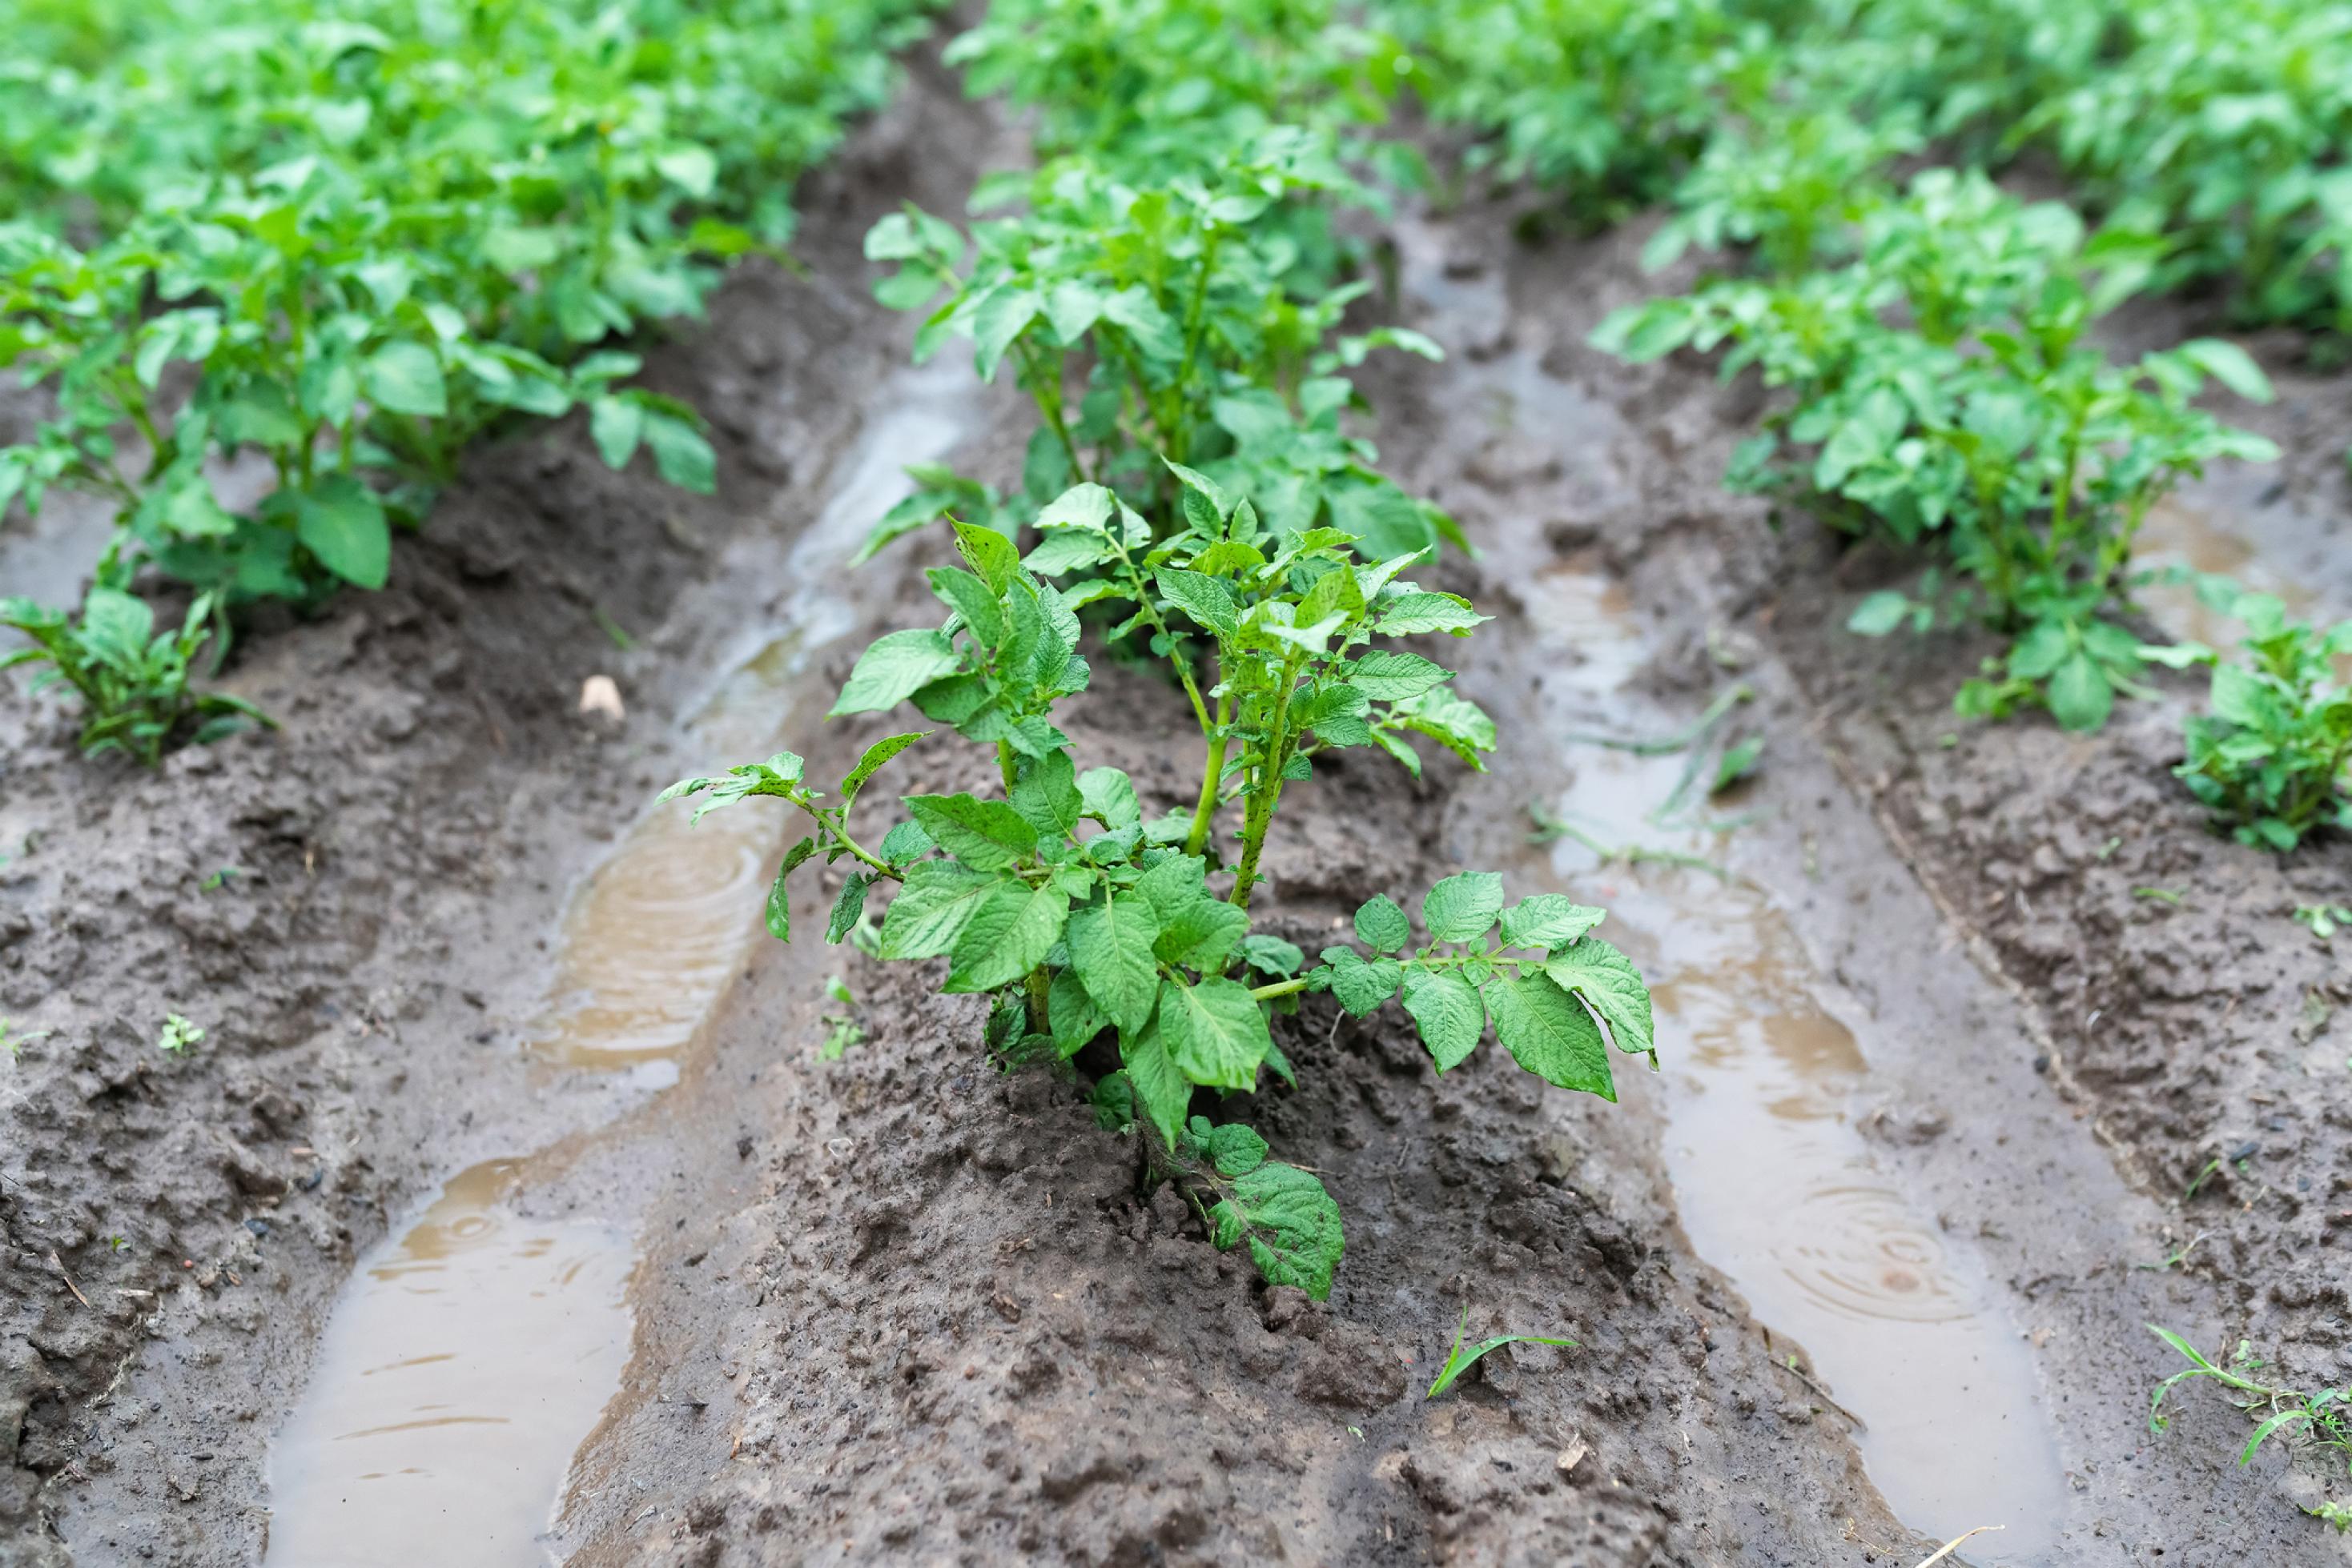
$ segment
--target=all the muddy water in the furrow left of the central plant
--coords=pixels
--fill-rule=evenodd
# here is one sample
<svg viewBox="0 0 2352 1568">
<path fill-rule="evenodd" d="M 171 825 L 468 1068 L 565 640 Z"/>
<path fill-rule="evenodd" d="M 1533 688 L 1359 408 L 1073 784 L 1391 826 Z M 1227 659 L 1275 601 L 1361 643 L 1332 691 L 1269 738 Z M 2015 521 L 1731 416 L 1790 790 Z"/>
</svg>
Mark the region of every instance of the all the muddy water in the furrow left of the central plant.
<svg viewBox="0 0 2352 1568">
<path fill-rule="evenodd" d="M 908 381 L 795 538 L 786 590 L 767 628 L 746 637 L 755 651 L 687 722 L 694 764 L 767 757 L 814 722 L 795 698 L 802 677 L 858 623 L 837 588 L 842 562 L 908 494 L 903 465 L 946 456 L 969 428 L 967 409 L 934 390 L 962 390 L 960 376 Z M 755 581 L 774 576 L 769 562 Z M 684 804 L 640 816 L 564 912 L 548 1001 L 527 1032 L 541 1084 L 581 1072 L 626 1074 L 647 1091 L 680 1081 L 731 976 L 764 940 L 760 912 L 786 832 L 783 811 L 757 806 L 694 827 Z M 633 1105 L 659 1117 L 668 1100 Z M 619 1126 L 569 1145 L 557 1164 L 595 1161 Z M 637 1251 L 626 1199 L 590 1218 L 536 1218 L 541 1187 L 532 1159 L 470 1166 L 353 1272 L 303 1401 L 270 1448 L 268 1563 L 550 1561 L 574 1453 L 621 1389 Z M 614 1187 L 626 1182 L 602 1185 Z"/>
</svg>

